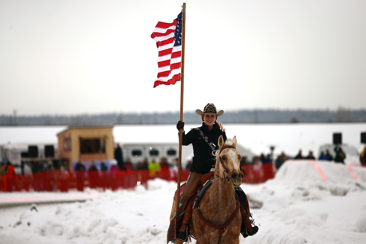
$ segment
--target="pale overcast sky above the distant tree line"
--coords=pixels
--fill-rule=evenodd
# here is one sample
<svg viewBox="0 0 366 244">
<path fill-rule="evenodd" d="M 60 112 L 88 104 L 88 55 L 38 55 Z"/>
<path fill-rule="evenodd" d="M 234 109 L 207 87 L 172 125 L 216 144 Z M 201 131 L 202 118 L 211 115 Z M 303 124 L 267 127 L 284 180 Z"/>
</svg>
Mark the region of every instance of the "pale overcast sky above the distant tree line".
<svg viewBox="0 0 366 244">
<path fill-rule="evenodd" d="M 366 108 L 366 0 L 186 0 L 184 111 Z M 179 111 L 153 88 L 183 1 L 0 0 L 0 114 Z"/>
</svg>

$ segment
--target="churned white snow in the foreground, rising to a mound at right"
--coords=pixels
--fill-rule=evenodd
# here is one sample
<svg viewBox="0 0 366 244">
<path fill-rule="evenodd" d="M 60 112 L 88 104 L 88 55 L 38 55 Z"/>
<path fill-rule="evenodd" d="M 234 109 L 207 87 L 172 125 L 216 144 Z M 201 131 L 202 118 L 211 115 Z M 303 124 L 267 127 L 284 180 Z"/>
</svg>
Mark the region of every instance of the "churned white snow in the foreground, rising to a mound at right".
<svg viewBox="0 0 366 244">
<path fill-rule="evenodd" d="M 91 200 L 0 208 L 0 243 L 164 244 L 176 187 L 155 179 L 133 191 L 1 193 L 1 201 Z M 242 188 L 259 232 L 240 243 L 366 243 L 366 168 L 290 160 L 274 179 Z"/>
</svg>

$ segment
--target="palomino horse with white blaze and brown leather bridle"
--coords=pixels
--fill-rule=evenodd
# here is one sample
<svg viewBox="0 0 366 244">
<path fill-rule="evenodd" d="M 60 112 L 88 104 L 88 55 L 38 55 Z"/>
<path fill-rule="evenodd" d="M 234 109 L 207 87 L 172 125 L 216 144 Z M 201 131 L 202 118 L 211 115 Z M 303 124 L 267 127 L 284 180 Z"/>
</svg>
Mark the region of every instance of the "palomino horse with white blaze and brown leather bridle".
<svg viewBox="0 0 366 244">
<path fill-rule="evenodd" d="M 190 235 L 197 240 L 196 244 L 239 243 L 242 217 L 234 187 L 242 183 L 244 176 L 240 171 L 240 154 L 235 148 L 236 136 L 225 143 L 220 136 L 218 145 L 213 182 L 192 210 Z M 170 219 L 175 211 L 176 202 L 173 201 Z"/>
</svg>

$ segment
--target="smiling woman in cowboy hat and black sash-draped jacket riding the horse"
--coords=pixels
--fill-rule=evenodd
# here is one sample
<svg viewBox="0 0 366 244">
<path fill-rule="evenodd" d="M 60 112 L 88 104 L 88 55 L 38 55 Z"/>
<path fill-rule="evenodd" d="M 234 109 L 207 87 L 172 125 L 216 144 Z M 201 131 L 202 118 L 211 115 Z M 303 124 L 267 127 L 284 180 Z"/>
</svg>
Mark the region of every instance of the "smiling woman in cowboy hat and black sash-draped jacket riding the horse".
<svg viewBox="0 0 366 244">
<path fill-rule="evenodd" d="M 214 151 L 218 150 L 219 137 L 223 137 L 223 141 L 227 140 L 225 130 L 216 122 L 217 117 L 223 115 L 224 111 L 216 112 L 216 107 L 213 104 L 207 104 L 203 111 L 196 110 L 196 113 L 201 116 L 203 121 L 202 126 L 191 129 L 187 134 L 184 132 L 184 122 L 178 121 L 177 129 L 183 129 L 182 145 L 193 146 L 193 159 L 190 174 L 184 189 L 183 195 L 180 198 L 179 207 L 179 227 L 177 239 L 187 241 L 189 235 L 190 214 L 185 214 L 188 204 L 201 187 L 201 177 L 203 174 L 210 172 L 214 162 Z M 257 226 L 252 226 L 250 220 L 251 214 L 249 210 L 249 203 L 247 201 L 244 191 L 238 186 L 236 191 L 240 200 L 240 213 L 242 215 L 242 228 L 240 233 L 245 237 L 252 236 L 258 232 Z M 191 205 L 189 205 L 191 207 Z"/>
</svg>

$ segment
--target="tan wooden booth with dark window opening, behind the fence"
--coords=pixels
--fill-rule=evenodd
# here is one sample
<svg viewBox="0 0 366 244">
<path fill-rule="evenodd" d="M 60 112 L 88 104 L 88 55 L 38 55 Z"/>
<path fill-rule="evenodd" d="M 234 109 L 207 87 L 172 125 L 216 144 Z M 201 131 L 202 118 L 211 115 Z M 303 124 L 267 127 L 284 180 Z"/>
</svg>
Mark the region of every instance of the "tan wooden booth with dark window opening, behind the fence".
<svg viewBox="0 0 366 244">
<path fill-rule="evenodd" d="M 68 127 L 57 134 L 58 155 L 75 162 L 108 161 L 114 159 L 113 126 Z"/>
</svg>

